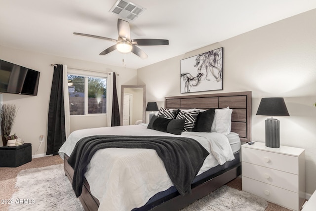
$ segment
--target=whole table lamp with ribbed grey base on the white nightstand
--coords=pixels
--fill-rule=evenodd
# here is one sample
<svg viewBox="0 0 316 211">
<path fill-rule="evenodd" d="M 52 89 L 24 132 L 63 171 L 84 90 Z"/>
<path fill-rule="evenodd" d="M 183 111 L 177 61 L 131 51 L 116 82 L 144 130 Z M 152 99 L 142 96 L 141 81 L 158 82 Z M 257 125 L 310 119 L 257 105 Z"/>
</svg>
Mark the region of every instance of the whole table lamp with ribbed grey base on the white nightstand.
<svg viewBox="0 0 316 211">
<path fill-rule="evenodd" d="M 280 147 L 280 121 L 273 116 L 290 116 L 283 97 L 262 98 L 258 107 L 257 115 L 271 116 L 266 120 L 266 146 L 271 148 Z"/>
</svg>

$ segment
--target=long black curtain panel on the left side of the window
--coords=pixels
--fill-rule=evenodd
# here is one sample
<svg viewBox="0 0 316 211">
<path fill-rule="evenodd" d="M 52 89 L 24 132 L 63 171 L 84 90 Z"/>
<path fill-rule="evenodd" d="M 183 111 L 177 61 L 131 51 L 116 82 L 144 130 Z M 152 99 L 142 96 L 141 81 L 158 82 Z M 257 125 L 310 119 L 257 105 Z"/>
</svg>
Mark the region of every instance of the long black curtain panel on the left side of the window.
<svg viewBox="0 0 316 211">
<path fill-rule="evenodd" d="M 63 93 L 63 65 L 54 67 L 50 91 L 46 155 L 58 155 L 58 150 L 66 141 L 65 109 Z"/>
</svg>

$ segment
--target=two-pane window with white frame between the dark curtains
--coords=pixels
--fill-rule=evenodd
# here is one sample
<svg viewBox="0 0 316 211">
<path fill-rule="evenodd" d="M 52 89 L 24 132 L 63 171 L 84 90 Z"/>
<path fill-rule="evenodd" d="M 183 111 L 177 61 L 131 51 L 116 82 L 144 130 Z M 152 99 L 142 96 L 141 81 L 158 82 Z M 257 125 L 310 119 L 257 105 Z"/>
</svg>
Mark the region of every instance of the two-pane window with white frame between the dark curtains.
<svg viewBox="0 0 316 211">
<path fill-rule="evenodd" d="M 68 75 L 70 115 L 106 114 L 107 79 Z"/>
</svg>

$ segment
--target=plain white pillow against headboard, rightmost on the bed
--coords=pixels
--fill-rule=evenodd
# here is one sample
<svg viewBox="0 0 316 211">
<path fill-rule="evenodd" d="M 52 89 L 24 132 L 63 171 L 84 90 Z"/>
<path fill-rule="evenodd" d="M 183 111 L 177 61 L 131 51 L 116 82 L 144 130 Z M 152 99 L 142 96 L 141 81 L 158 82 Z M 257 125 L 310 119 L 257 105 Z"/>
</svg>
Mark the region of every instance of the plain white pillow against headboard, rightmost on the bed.
<svg viewBox="0 0 316 211">
<path fill-rule="evenodd" d="M 224 135 L 229 134 L 232 129 L 232 113 L 233 109 L 229 107 L 215 109 L 211 132 L 218 132 Z"/>
</svg>

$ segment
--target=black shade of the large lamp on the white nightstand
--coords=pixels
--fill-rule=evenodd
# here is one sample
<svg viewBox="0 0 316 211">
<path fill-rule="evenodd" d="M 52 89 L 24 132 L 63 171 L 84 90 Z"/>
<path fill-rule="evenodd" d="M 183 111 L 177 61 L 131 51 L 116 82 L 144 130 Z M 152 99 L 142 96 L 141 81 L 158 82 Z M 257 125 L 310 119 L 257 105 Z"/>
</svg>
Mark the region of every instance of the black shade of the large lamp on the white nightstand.
<svg viewBox="0 0 316 211">
<path fill-rule="evenodd" d="M 262 98 L 258 107 L 257 115 L 290 116 L 283 97 Z"/>
</svg>

